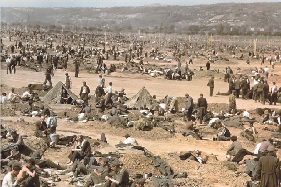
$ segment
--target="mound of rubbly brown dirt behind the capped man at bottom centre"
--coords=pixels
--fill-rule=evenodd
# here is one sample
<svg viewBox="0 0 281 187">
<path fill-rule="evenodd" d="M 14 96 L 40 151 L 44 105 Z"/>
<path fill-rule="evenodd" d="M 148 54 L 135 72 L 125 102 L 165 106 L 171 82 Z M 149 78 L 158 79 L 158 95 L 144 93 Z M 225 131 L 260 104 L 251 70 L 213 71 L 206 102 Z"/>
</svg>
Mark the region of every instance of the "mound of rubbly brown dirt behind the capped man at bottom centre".
<svg viewBox="0 0 281 187">
<path fill-rule="evenodd" d="M 130 174 L 136 175 L 136 173 L 149 173 L 152 172 L 153 176 L 160 176 L 158 169 L 154 167 L 150 158 L 145 155 L 132 154 L 132 155 L 123 155 L 119 159 L 124 163 L 124 168 L 129 171 Z"/>
</svg>

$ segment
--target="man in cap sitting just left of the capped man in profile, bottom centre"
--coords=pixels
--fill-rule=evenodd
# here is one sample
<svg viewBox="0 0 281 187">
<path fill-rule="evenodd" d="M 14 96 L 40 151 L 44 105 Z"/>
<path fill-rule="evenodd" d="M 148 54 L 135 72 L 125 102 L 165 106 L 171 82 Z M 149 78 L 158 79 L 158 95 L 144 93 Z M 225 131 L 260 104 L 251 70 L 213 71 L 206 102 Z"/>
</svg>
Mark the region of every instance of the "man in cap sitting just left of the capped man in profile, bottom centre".
<svg viewBox="0 0 281 187">
<path fill-rule="evenodd" d="M 81 167 L 81 166 L 79 166 L 79 167 Z M 77 168 L 77 170 L 78 170 L 78 168 Z M 105 177 L 109 176 L 108 173 L 109 173 L 108 159 L 103 157 L 103 158 L 101 158 L 101 166 L 99 166 L 97 169 L 95 169 L 93 172 L 91 172 L 90 178 L 84 187 L 89 187 L 91 185 L 97 185 L 97 184 L 104 182 Z M 79 174 L 79 172 L 77 172 L 77 174 Z M 75 176 L 75 173 L 74 173 L 74 176 Z"/>
</svg>

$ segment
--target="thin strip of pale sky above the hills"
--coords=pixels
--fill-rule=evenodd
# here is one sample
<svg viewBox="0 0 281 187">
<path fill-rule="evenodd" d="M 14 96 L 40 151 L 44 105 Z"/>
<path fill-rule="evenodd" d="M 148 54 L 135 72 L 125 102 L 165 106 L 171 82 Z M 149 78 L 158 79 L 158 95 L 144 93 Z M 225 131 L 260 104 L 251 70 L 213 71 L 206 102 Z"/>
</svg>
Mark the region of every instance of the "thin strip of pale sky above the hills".
<svg viewBox="0 0 281 187">
<path fill-rule="evenodd" d="M 143 6 L 160 3 L 163 5 L 198 5 L 225 2 L 281 2 L 281 0 L 0 0 L 2 7 L 118 7 Z"/>
</svg>

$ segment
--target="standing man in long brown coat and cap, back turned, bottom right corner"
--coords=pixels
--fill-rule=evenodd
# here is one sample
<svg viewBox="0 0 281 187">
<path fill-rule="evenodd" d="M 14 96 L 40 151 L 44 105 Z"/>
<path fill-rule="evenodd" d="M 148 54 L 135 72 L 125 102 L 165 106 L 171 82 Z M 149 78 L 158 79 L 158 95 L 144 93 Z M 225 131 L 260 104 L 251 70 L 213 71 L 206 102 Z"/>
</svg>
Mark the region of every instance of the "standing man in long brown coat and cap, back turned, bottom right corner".
<svg viewBox="0 0 281 187">
<path fill-rule="evenodd" d="M 256 175 L 252 180 L 260 180 L 261 187 L 278 187 L 280 181 L 279 159 L 275 157 L 274 146 L 267 148 L 268 155 L 259 158 Z"/>
</svg>

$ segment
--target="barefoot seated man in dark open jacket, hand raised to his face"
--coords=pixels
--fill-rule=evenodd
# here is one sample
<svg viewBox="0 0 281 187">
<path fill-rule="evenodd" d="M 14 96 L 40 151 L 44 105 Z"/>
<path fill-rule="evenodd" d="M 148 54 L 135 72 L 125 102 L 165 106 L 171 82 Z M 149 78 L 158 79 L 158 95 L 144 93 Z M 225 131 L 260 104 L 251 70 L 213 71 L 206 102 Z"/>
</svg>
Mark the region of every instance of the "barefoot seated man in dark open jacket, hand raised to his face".
<svg viewBox="0 0 281 187">
<path fill-rule="evenodd" d="M 68 155 L 69 160 L 64 164 L 68 166 L 73 165 L 76 159 L 83 159 L 85 156 L 91 155 L 91 145 L 89 141 L 87 141 L 83 135 L 77 136 L 77 141 L 75 144 L 75 149 L 71 149 L 71 153 Z"/>
</svg>

